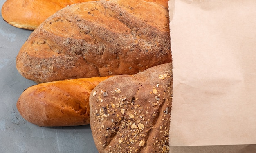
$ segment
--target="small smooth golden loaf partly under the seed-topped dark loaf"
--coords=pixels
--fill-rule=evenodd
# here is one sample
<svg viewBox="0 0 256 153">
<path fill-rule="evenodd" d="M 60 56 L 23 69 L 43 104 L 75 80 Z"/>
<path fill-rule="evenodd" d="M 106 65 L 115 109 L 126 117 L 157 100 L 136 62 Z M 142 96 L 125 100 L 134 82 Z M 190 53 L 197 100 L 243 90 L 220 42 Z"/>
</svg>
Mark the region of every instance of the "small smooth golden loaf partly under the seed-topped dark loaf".
<svg viewBox="0 0 256 153">
<path fill-rule="evenodd" d="M 38 126 L 89 124 L 89 96 L 99 82 L 93 77 L 41 83 L 27 88 L 18 98 L 17 109 L 28 122 Z"/>
</svg>

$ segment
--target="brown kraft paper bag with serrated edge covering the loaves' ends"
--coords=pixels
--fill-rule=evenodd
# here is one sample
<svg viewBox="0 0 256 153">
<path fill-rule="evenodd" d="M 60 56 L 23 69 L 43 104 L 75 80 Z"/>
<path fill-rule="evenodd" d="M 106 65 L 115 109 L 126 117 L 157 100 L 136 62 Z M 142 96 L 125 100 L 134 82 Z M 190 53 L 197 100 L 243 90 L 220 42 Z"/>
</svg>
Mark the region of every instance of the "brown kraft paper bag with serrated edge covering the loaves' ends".
<svg viewBox="0 0 256 153">
<path fill-rule="evenodd" d="M 256 153 L 256 0 L 170 0 L 171 153 Z"/>
</svg>

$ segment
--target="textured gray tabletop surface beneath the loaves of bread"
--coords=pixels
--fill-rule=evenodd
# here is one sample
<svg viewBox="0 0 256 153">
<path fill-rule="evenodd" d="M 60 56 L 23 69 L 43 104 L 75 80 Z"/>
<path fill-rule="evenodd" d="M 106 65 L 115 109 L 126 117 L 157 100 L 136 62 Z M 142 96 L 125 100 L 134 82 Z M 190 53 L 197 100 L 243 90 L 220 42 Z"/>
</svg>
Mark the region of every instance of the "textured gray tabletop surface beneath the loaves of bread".
<svg viewBox="0 0 256 153">
<path fill-rule="evenodd" d="M 90 125 L 38 127 L 20 116 L 17 99 L 35 83 L 18 73 L 15 59 L 31 32 L 0 16 L 0 153 L 97 153 Z"/>
</svg>

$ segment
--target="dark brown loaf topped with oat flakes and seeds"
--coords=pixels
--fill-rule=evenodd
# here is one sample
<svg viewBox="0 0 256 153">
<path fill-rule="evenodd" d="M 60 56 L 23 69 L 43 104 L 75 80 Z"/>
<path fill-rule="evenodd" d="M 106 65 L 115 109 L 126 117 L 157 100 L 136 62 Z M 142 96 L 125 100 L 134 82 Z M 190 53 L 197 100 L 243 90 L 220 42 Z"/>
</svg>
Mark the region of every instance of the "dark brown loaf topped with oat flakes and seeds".
<svg viewBox="0 0 256 153">
<path fill-rule="evenodd" d="M 111 77 L 90 95 L 90 126 L 99 153 L 168 153 L 171 63 Z"/>
</svg>

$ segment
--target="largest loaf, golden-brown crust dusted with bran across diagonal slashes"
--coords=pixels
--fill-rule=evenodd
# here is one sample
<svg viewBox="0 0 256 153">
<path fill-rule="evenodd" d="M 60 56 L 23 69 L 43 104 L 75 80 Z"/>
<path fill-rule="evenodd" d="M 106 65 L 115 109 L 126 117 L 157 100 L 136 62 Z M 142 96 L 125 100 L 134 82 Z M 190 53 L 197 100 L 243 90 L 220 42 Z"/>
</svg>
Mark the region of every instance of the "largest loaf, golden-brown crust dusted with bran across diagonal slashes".
<svg viewBox="0 0 256 153">
<path fill-rule="evenodd" d="M 16 58 L 38 83 L 136 74 L 171 62 L 168 10 L 142 0 L 65 7 L 34 30 Z"/>
</svg>

